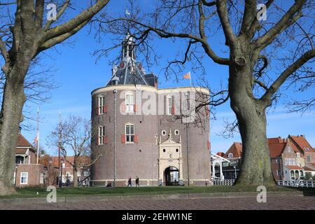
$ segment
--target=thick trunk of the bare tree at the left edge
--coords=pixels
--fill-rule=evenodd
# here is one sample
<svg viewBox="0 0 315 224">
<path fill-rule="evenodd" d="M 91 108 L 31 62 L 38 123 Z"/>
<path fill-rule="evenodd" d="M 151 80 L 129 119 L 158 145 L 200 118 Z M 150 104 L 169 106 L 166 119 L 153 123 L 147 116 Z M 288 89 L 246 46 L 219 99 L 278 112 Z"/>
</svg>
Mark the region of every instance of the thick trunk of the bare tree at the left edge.
<svg viewBox="0 0 315 224">
<path fill-rule="evenodd" d="M 24 77 L 25 73 L 27 69 L 13 68 L 4 87 L 0 114 L 0 195 L 15 193 L 15 147 L 26 100 L 20 77 Z"/>
</svg>

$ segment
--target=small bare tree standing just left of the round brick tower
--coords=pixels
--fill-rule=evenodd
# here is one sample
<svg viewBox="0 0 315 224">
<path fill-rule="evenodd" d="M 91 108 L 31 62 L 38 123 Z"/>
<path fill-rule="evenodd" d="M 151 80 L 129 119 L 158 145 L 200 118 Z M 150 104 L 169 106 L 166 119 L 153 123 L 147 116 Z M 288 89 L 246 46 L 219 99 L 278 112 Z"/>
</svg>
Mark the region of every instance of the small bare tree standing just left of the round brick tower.
<svg viewBox="0 0 315 224">
<path fill-rule="evenodd" d="M 95 135 L 91 130 L 90 120 L 69 116 L 59 123 L 47 138 L 49 146 L 54 148 L 60 146 L 61 155 L 73 168 L 74 187 L 78 187 L 78 172 L 89 169 L 102 156 L 99 151 L 92 151 L 91 139 L 94 139 Z M 73 160 L 69 160 L 67 157 L 69 154 L 73 155 Z M 86 160 L 86 157 L 91 160 Z"/>
</svg>

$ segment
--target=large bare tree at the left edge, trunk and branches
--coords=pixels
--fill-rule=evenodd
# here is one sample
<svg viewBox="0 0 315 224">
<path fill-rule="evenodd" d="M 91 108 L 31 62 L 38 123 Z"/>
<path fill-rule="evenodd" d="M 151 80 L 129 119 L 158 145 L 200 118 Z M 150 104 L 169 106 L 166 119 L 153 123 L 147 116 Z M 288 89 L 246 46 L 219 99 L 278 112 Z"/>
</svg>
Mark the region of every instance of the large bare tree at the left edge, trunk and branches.
<svg viewBox="0 0 315 224">
<path fill-rule="evenodd" d="M 44 0 L 17 0 L 2 4 L 0 52 L 5 75 L 0 113 L 0 195 L 15 193 L 13 186 L 14 151 L 22 108 L 26 101 L 25 78 L 31 61 L 41 52 L 76 34 L 104 8 L 109 0 L 90 1 L 91 6 L 64 22 L 72 7 L 70 0 L 56 1 L 58 12 L 48 17 Z M 3 7 L 10 7 L 6 8 Z M 53 8 L 53 7 L 52 7 Z M 3 15 L 3 12 L 7 12 Z M 11 12 L 15 12 L 10 14 Z"/>
</svg>

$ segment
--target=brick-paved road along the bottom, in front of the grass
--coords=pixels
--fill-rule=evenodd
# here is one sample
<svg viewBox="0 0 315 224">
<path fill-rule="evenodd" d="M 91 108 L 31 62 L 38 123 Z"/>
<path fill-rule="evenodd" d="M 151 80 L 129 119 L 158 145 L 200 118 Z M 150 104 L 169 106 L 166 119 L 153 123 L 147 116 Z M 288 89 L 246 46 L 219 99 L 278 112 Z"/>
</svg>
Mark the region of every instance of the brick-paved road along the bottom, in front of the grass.
<svg viewBox="0 0 315 224">
<path fill-rule="evenodd" d="M 216 209 L 315 209 L 315 197 L 284 196 L 267 197 L 266 203 L 258 203 L 255 197 L 225 197 L 176 200 L 87 200 L 84 202 L 27 203 L 1 202 L 0 209 L 148 209 L 148 210 L 216 210 Z"/>
</svg>

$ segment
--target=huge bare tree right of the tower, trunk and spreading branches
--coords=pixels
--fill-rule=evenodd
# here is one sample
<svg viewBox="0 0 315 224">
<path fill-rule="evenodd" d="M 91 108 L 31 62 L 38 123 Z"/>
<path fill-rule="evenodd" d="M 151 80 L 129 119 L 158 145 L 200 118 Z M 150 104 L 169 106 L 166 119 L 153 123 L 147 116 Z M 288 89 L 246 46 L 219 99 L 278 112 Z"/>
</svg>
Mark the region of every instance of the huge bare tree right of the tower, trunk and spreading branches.
<svg viewBox="0 0 315 224">
<path fill-rule="evenodd" d="M 120 18 L 95 19 L 102 31 L 114 34 L 129 23 L 130 33 L 142 45 L 156 36 L 186 43 L 182 59 L 174 59 L 167 67 L 174 76 L 181 73 L 183 64 L 200 61 L 200 52 L 216 64 L 228 66 L 225 97 L 230 99 L 237 117 L 232 126 L 239 128 L 243 145 L 241 174 L 237 179 L 241 186 L 274 186 L 266 109 L 281 96 L 279 90 L 286 80 L 292 78 L 295 82 L 301 77 L 309 80 L 312 70 L 308 65 L 315 55 L 314 1 L 259 3 L 265 5 L 257 8 L 255 0 L 161 0 L 149 13 L 135 10 Z M 264 7 L 267 20 L 263 20 Z M 220 35 L 223 41 L 212 38 Z M 221 41 L 224 56 L 214 50 L 214 43 Z M 174 65 L 179 69 L 174 69 Z M 227 102 L 225 97 L 218 104 Z"/>
</svg>

